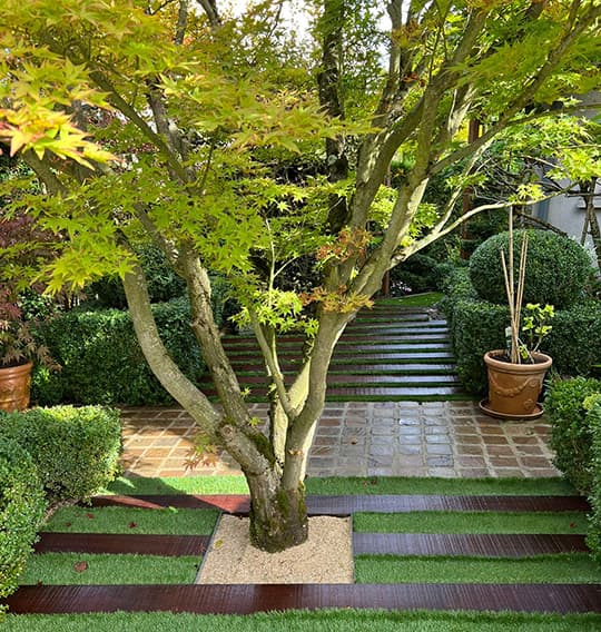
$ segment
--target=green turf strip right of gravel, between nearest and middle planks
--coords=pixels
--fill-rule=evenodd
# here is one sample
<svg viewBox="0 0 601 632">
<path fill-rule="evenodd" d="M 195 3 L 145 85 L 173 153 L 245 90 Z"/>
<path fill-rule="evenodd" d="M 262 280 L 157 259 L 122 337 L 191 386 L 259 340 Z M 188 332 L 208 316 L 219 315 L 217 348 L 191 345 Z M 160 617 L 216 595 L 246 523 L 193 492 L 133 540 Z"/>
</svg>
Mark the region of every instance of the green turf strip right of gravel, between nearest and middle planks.
<svg viewBox="0 0 601 632">
<path fill-rule="evenodd" d="M 601 583 L 601 569 L 585 553 L 533 557 L 358 555 L 358 584 L 403 583 Z"/>
</svg>

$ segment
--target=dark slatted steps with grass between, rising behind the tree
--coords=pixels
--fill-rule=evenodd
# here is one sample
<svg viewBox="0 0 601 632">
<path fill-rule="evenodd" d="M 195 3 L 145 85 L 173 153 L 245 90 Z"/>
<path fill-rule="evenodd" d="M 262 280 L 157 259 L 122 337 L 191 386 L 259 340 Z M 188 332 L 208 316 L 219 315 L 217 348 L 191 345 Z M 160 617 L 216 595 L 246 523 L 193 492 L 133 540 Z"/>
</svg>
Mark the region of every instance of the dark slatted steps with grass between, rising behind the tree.
<svg viewBox="0 0 601 632">
<path fill-rule="evenodd" d="M 224 337 L 226 353 L 250 402 L 265 401 L 264 364 L 252 334 Z M 279 340 L 280 365 L 290 378 L 302 363 L 303 338 Z M 455 372 L 446 322 L 433 310 L 401 302 L 362 310 L 347 326 L 332 359 L 327 399 L 442 401 L 465 399 Z M 200 385 L 209 396 L 210 382 Z"/>
</svg>

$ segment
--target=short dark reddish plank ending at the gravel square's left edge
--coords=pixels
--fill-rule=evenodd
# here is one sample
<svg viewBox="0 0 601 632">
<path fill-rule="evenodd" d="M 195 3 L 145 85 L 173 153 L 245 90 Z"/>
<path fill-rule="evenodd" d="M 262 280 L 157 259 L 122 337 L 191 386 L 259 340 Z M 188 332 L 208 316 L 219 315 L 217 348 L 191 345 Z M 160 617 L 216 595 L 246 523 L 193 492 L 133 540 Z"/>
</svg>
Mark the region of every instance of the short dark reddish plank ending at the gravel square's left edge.
<svg viewBox="0 0 601 632">
<path fill-rule="evenodd" d="M 208 535 L 140 533 L 40 533 L 36 553 L 137 553 L 139 555 L 203 555 Z"/>
</svg>

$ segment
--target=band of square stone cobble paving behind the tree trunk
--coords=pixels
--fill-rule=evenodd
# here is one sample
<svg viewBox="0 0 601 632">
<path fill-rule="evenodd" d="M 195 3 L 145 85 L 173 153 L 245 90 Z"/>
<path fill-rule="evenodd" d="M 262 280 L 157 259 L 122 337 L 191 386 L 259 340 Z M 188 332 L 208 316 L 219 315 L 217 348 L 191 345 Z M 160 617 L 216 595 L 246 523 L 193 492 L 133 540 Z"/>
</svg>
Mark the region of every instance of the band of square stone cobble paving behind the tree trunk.
<svg viewBox="0 0 601 632">
<path fill-rule="evenodd" d="M 266 418 L 266 404 L 252 404 Z M 225 454 L 186 470 L 195 426 L 175 407 L 125 408 L 128 476 L 239 474 Z M 328 403 L 309 456 L 311 476 L 558 476 L 544 418 L 500 421 L 475 402 Z"/>
</svg>

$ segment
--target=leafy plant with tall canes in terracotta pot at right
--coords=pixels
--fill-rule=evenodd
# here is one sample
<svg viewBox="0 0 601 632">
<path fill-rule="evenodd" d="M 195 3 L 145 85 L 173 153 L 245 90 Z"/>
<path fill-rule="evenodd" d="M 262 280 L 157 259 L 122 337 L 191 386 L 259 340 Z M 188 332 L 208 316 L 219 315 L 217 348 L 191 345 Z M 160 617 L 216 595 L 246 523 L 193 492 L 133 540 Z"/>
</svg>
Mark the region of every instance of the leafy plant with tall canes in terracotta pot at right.
<svg viewBox="0 0 601 632">
<path fill-rule="evenodd" d="M 510 308 L 510 326 L 505 330 L 506 349 L 484 354 L 489 375 L 489 397 L 480 403 L 481 409 L 494 417 L 508 419 L 536 418 L 543 413 L 539 396 L 544 376 L 552 365 L 549 355 L 539 350 L 541 340 L 551 332 L 549 320 L 553 306 L 528 304 L 522 322 L 522 299 L 528 258 L 528 234 L 524 234 L 518 269 L 513 266 L 513 229 L 510 217 L 509 263 L 501 250 L 505 290 Z"/>
</svg>

